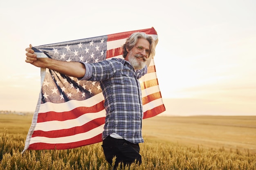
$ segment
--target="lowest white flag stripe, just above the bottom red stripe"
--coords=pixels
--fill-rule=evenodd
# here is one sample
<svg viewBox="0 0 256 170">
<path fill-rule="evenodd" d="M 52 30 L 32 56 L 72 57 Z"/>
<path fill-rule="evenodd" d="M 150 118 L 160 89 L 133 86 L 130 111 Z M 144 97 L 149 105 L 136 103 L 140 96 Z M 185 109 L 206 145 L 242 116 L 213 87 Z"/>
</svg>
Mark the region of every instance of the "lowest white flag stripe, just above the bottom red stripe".
<svg viewBox="0 0 256 170">
<path fill-rule="evenodd" d="M 71 143 L 76 141 L 82 141 L 82 140 L 90 139 L 92 137 L 95 137 L 96 135 L 101 134 L 103 132 L 103 127 L 104 127 L 104 124 L 88 132 L 79 133 L 79 134 L 67 136 L 67 137 L 57 137 L 57 138 L 31 137 L 30 144 L 35 144 L 38 142 L 44 142 L 47 144 L 66 144 L 66 143 Z"/>
</svg>

